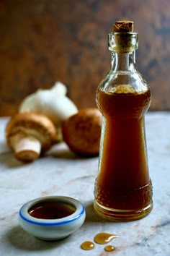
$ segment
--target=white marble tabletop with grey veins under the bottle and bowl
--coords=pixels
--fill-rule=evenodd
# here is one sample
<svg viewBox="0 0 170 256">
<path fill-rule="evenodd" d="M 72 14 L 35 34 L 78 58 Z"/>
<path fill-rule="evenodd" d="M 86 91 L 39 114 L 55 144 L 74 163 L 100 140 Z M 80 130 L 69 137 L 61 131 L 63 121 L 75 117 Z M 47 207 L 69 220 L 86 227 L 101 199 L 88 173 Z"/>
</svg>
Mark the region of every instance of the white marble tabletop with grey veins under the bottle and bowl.
<svg viewBox="0 0 170 256">
<path fill-rule="evenodd" d="M 150 175 L 153 181 L 153 210 L 146 218 L 112 223 L 99 218 L 93 209 L 94 179 L 98 158 L 78 158 L 66 145 L 55 146 L 44 158 L 23 164 L 6 147 L 0 119 L 0 255 L 1 256 L 169 256 L 170 255 L 170 113 L 146 115 L 146 135 Z M 42 242 L 18 224 L 19 208 L 36 197 L 68 195 L 84 203 L 86 221 L 81 229 L 60 242 Z M 93 240 L 101 232 L 119 234 L 109 244 L 114 252 L 104 252 L 95 244 L 91 251 L 81 242 Z"/>
</svg>

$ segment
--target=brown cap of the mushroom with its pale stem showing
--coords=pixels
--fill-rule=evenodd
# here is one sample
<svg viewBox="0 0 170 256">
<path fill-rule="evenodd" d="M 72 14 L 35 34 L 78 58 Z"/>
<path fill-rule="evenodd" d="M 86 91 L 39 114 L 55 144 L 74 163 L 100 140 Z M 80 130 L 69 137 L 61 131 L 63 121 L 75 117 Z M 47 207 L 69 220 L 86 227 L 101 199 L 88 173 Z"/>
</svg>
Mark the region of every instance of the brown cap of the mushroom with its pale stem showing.
<svg viewBox="0 0 170 256">
<path fill-rule="evenodd" d="M 40 140 L 42 152 L 48 150 L 55 142 L 55 126 L 47 116 L 42 114 L 29 112 L 12 116 L 6 124 L 6 142 L 10 148 L 13 148 L 11 138 L 19 132 Z"/>
</svg>

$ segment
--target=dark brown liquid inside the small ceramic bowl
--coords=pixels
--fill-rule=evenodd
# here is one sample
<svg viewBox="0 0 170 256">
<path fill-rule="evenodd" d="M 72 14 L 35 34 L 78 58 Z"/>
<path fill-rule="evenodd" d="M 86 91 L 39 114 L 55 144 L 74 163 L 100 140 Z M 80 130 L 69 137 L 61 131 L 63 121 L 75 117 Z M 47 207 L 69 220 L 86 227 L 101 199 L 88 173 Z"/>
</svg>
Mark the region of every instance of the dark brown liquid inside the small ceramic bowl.
<svg viewBox="0 0 170 256">
<path fill-rule="evenodd" d="M 70 216 L 75 210 L 68 202 L 42 201 L 33 205 L 28 213 L 34 218 L 56 219 Z"/>
</svg>

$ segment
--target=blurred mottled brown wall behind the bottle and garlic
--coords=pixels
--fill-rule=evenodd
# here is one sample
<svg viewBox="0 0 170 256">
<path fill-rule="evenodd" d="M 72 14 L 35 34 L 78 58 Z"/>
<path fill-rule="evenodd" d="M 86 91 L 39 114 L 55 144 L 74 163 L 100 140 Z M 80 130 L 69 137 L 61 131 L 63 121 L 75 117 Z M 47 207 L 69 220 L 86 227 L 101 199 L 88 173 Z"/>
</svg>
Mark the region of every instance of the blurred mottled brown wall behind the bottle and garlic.
<svg viewBox="0 0 170 256">
<path fill-rule="evenodd" d="M 110 67 L 107 33 L 122 19 L 139 33 L 136 61 L 151 87 L 150 110 L 170 110 L 169 0 L 1 0 L 0 116 L 55 81 L 79 108 L 96 106 Z"/>
</svg>

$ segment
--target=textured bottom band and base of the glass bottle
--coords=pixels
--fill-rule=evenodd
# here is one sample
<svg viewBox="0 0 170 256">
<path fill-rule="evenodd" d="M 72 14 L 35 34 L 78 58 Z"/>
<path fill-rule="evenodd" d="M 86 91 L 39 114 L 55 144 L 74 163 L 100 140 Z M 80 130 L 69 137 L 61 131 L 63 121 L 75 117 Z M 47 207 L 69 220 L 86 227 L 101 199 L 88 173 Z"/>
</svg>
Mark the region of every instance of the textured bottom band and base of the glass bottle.
<svg viewBox="0 0 170 256">
<path fill-rule="evenodd" d="M 111 221 L 135 221 L 147 216 L 153 208 L 151 180 L 136 189 L 112 191 L 97 186 L 96 182 L 94 195 L 94 209 Z"/>
</svg>

